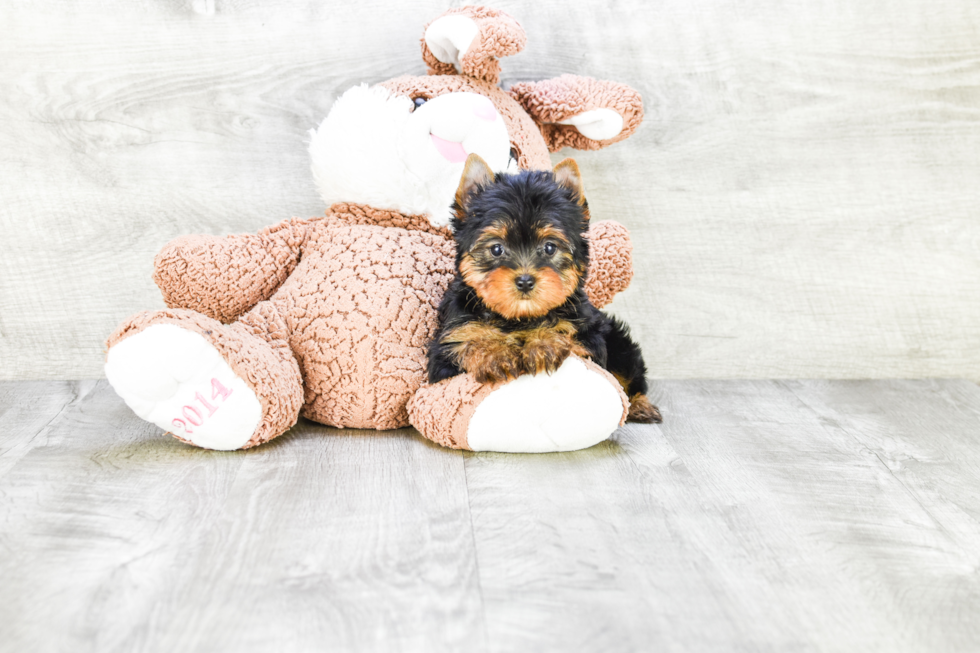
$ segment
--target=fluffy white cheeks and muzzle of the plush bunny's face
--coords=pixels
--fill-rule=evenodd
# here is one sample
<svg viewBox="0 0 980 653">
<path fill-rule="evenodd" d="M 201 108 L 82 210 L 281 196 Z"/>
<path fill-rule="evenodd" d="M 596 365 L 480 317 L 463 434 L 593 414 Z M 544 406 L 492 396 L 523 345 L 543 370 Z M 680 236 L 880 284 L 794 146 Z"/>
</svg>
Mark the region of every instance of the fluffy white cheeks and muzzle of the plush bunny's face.
<svg viewBox="0 0 980 653">
<path fill-rule="evenodd" d="M 479 154 L 495 172 L 516 171 L 503 118 L 475 93 L 448 93 L 415 109 L 409 97 L 362 84 L 311 134 L 313 177 L 328 206 L 368 204 L 426 215 L 435 226 L 449 224 L 465 156 L 447 159 L 433 136 Z"/>
</svg>

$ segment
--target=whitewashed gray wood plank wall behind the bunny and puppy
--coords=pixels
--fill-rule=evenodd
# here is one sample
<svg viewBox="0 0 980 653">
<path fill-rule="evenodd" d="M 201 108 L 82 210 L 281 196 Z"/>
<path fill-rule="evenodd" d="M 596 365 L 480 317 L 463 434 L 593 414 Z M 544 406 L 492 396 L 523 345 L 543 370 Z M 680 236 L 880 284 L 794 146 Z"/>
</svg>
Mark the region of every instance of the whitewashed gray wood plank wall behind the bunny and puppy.
<svg viewBox="0 0 980 653">
<path fill-rule="evenodd" d="M 101 375 L 183 233 L 322 213 L 307 130 L 445 0 L 0 4 L 0 378 Z M 580 161 L 658 377 L 980 379 L 980 3 L 501 1 L 504 84 L 628 82 Z M 564 154 L 563 154 L 564 155 Z"/>
</svg>

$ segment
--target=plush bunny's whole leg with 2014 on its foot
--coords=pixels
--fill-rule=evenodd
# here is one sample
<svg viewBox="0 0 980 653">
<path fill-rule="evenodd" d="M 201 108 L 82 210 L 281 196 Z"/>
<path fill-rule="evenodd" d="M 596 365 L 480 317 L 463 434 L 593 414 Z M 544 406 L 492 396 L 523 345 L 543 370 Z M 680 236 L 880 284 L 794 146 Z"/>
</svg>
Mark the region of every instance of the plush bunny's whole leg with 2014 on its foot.
<svg viewBox="0 0 980 653">
<path fill-rule="evenodd" d="M 110 336 L 106 376 L 133 411 L 190 444 L 245 449 L 284 433 L 299 366 L 262 302 L 232 325 L 190 310 L 139 313 Z"/>
</svg>

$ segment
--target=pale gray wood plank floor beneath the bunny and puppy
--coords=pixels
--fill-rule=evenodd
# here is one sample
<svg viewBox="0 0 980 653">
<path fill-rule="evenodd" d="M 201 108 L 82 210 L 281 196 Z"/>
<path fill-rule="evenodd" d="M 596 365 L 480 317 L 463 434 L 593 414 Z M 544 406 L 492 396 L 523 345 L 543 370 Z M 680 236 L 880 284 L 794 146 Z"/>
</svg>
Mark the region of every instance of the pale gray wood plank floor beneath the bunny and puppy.
<svg viewBox="0 0 980 653">
<path fill-rule="evenodd" d="M 575 453 L 220 453 L 0 383 L 0 651 L 980 650 L 980 388 L 654 392 Z"/>
</svg>

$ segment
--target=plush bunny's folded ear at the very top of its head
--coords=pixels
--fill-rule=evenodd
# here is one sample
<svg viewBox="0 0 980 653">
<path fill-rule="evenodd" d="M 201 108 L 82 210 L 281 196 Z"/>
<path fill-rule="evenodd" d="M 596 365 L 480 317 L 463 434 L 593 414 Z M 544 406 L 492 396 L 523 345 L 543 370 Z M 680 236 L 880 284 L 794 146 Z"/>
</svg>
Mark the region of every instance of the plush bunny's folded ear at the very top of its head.
<svg viewBox="0 0 980 653">
<path fill-rule="evenodd" d="M 429 23 L 422 58 L 432 75 L 467 75 L 500 82 L 500 62 L 524 49 L 524 28 L 506 13 L 488 7 L 457 7 Z"/>
</svg>

